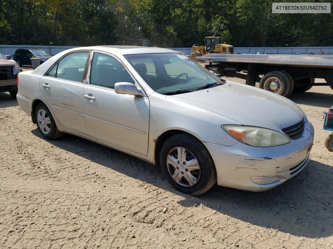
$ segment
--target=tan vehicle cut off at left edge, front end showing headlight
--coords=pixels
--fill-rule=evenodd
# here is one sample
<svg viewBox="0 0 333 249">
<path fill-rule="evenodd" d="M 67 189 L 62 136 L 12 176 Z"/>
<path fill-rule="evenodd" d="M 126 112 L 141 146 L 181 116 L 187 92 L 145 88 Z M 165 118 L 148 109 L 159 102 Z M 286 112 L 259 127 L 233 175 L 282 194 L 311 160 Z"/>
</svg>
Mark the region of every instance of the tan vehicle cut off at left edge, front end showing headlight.
<svg viewBox="0 0 333 249">
<path fill-rule="evenodd" d="M 0 53 L 0 93 L 9 92 L 13 98 L 17 94 L 17 75 L 21 72 L 20 66 L 12 59 Z"/>
</svg>

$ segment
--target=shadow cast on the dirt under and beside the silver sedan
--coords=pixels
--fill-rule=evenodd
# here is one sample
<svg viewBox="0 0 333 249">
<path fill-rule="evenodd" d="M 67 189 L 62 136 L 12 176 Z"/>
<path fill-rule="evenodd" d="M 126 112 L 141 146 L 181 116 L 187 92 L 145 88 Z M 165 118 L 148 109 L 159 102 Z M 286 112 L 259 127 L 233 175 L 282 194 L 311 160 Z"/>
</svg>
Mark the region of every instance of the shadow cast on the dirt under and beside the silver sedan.
<svg viewBox="0 0 333 249">
<path fill-rule="evenodd" d="M 44 139 L 38 129 L 32 133 Z M 215 185 L 205 194 L 194 197 L 173 189 L 159 167 L 125 153 L 70 134 L 47 141 L 101 166 L 181 196 L 184 199 L 178 204 L 183 207 L 201 203 L 249 225 L 307 238 L 333 234 L 333 167 L 314 160 L 309 160 L 297 176 L 269 191 L 247 192 Z M 127 163 L 126 167 L 122 162 Z"/>
</svg>

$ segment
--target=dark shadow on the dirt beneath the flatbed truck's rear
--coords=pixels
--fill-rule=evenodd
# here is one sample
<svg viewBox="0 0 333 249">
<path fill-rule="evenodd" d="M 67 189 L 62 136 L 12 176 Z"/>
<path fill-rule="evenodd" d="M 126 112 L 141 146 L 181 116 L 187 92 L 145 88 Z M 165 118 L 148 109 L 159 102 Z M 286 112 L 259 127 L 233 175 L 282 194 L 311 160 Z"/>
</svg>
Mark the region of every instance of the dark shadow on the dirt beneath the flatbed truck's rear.
<svg viewBox="0 0 333 249">
<path fill-rule="evenodd" d="M 333 90 L 332 90 L 333 92 Z M 292 93 L 288 96 L 296 104 L 330 108 L 333 106 L 333 94 L 330 93 Z"/>
</svg>

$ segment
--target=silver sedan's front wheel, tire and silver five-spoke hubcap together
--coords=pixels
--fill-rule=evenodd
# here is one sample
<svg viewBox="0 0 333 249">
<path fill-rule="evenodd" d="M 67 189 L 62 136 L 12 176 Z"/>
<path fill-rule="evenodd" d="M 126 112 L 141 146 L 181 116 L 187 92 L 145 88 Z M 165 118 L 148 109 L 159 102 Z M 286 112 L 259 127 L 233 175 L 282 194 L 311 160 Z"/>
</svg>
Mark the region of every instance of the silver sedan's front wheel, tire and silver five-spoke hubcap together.
<svg viewBox="0 0 333 249">
<path fill-rule="evenodd" d="M 213 159 L 196 138 L 179 133 L 163 144 L 160 164 L 166 180 L 178 191 L 201 195 L 216 183 Z"/>
</svg>

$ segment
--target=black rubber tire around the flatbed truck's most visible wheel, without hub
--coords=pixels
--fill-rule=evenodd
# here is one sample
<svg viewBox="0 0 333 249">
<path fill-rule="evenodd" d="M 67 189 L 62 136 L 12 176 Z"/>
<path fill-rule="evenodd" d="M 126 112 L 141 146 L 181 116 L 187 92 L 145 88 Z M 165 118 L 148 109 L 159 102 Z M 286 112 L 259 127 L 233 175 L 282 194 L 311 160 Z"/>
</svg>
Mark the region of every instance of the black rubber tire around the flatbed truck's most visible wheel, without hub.
<svg viewBox="0 0 333 249">
<path fill-rule="evenodd" d="M 274 92 L 272 90 L 269 90 L 269 86 L 267 86 L 267 84 L 269 82 L 266 82 L 266 81 L 271 77 L 277 78 L 281 82 L 281 87 L 280 87 L 280 90 L 278 92 Z M 288 76 L 284 72 L 273 71 L 273 72 L 266 73 L 261 78 L 260 83 L 259 83 L 259 87 L 261 89 L 265 89 L 265 90 L 270 91 L 272 93 L 276 93 L 278 95 L 286 97 L 289 94 L 290 87 L 291 87 L 291 82 L 290 82 Z"/>
</svg>

